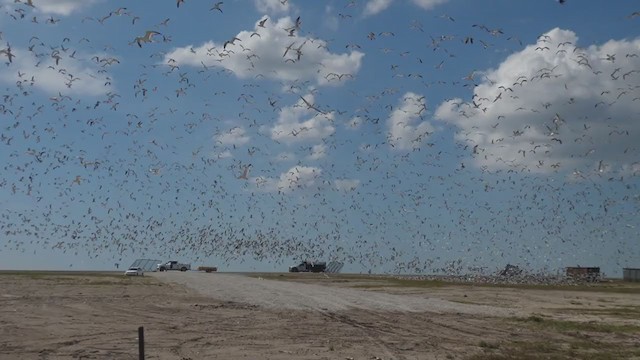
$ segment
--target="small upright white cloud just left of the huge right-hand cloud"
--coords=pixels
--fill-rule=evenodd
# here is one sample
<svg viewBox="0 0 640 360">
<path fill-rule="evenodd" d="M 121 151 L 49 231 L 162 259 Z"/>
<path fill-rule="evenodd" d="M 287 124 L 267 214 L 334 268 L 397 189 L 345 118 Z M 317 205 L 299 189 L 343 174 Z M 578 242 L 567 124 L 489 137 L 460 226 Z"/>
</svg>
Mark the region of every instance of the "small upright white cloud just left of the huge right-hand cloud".
<svg viewBox="0 0 640 360">
<path fill-rule="evenodd" d="M 400 101 L 400 106 L 391 112 L 387 125 L 389 145 L 398 150 L 417 149 L 423 140 L 435 131 L 427 121 L 417 123 L 427 109 L 425 97 L 407 92 Z"/>
</svg>

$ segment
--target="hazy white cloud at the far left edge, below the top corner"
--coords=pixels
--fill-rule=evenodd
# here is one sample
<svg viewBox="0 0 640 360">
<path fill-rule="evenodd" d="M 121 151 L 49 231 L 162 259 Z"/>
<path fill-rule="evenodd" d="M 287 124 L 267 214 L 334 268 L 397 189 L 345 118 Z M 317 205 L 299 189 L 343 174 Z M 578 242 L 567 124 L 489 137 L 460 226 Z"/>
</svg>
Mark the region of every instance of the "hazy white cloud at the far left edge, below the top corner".
<svg viewBox="0 0 640 360">
<path fill-rule="evenodd" d="M 89 67 L 80 58 L 86 55 L 70 57 L 73 49 L 66 52 L 57 51 L 60 56 L 59 64 L 52 56 L 39 59 L 34 52 L 12 48 L 15 55 L 10 64 L 11 71 L 0 72 L 0 81 L 15 84 L 21 81 L 24 85 L 31 84 L 48 94 L 62 93 L 65 95 L 103 95 L 113 90 L 111 80 L 104 73 L 99 73 L 95 66 Z M 89 58 L 91 55 L 88 56 Z M 33 79 L 33 81 L 32 81 Z"/>
</svg>

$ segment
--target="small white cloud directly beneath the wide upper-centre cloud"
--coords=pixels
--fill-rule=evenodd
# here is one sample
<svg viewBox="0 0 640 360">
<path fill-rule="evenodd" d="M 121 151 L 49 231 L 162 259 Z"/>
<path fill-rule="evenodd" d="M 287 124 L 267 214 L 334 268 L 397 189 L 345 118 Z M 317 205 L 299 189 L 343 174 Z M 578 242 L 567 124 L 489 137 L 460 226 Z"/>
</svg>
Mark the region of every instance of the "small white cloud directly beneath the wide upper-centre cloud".
<svg viewBox="0 0 640 360">
<path fill-rule="evenodd" d="M 305 100 L 314 104 L 314 96 L 305 95 Z M 300 99 L 295 105 L 283 107 L 278 114 L 278 121 L 269 130 L 271 138 L 287 144 L 305 141 L 318 141 L 335 132 L 333 113 L 321 114 L 309 109 Z"/>
</svg>

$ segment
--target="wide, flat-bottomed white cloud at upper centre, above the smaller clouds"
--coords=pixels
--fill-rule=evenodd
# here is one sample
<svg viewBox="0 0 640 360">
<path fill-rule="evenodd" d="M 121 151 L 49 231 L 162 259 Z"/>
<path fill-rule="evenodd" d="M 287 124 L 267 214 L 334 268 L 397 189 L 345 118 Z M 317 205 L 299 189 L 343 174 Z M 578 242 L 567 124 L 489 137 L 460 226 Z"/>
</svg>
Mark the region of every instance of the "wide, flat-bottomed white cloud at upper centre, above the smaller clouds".
<svg viewBox="0 0 640 360">
<path fill-rule="evenodd" d="M 364 53 L 332 53 L 324 40 L 289 36 L 294 22 L 284 17 L 265 27 L 256 22 L 253 30 L 241 31 L 233 43 L 208 41 L 170 51 L 164 62 L 180 66 L 220 67 L 239 78 L 270 78 L 280 81 L 315 81 L 319 85 L 339 86 L 351 80 L 360 69 Z"/>
</svg>

